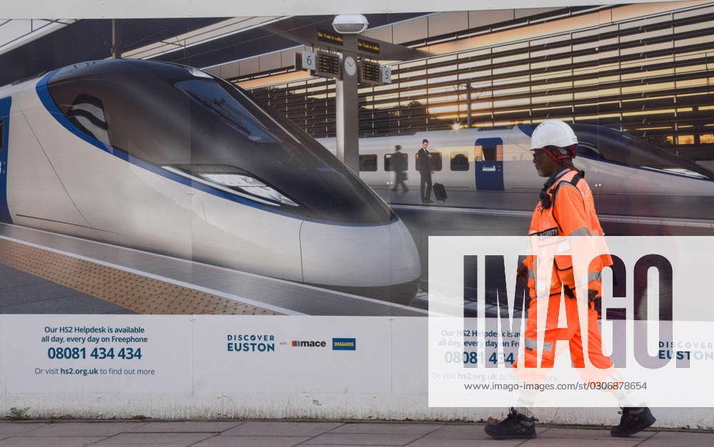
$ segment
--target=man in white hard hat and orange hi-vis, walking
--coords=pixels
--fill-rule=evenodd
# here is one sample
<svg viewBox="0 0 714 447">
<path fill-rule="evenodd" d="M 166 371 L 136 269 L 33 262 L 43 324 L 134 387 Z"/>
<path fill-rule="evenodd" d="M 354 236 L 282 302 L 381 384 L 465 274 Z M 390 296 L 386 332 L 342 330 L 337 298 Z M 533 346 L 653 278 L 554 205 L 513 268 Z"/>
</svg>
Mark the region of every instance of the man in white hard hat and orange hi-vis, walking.
<svg viewBox="0 0 714 447">
<path fill-rule="evenodd" d="M 585 173 L 573 167 L 577 145 L 578 138 L 573 129 L 561 120 L 544 121 L 533 130 L 533 135 L 531 135 L 531 151 L 533 152 L 535 170 L 538 171 L 540 177 L 546 177 L 548 180 L 540 192 L 538 205 L 533 210 L 528 235 L 541 241 L 543 245 L 548 245 L 548 243 L 552 243 L 550 241 L 553 241 L 554 244 L 550 250 L 555 250 L 555 254 L 551 255 L 553 267 L 550 273 L 550 296 L 547 303 L 548 312 L 545 316 L 540 368 L 553 366 L 555 341 L 557 340 L 567 340 L 573 366 L 585 368 L 583 334 L 580 330 L 575 293 L 573 258 L 557 255 L 558 252 L 570 250 L 570 238 L 568 238 L 570 236 L 603 236 L 603 229 L 595 214 L 593 194 L 588 183 L 585 182 Z M 548 237 L 552 237 L 550 241 Z M 590 239 L 588 238 L 588 240 Z M 565 246 L 563 247 L 563 245 Z M 551 253 L 553 252 L 551 251 Z M 610 255 L 602 253 L 603 251 L 600 251 L 588 267 L 586 339 L 588 359 L 592 366 L 600 371 L 612 371 L 612 361 L 608 356 L 602 354 L 599 316 L 594 305 L 595 299 L 601 296 L 601 271 L 604 267 L 613 264 Z M 524 334 L 526 346 L 524 346 L 523 363 L 526 369 L 529 366 L 535 368 L 538 360 L 536 289 L 540 289 L 540 287 L 537 287 L 536 279 L 547 277 L 543 272 L 540 272 L 540 276 L 538 276 L 535 267 L 536 262 L 533 256 L 526 258 L 526 261 L 518 267 L 518 276 L 528 279 L 528 290 L 531 297 Z M 563 293 L 565 294 L 565 315 L 568 327 L 558 327 L 560 299 Z M 541 309 L 545 307 L 541 303 Z M 621 413 L 620 424 L 610 430 L 612 436 L 630 436 L 655 423 L 655 418 L 647 407 L 625 407 Z M 496 439 L 535 438 L 535 418 L 528 407 L 511 408 L 506 419 L 499 423 L 488 424 L 486 433 Z"/>
</svg>

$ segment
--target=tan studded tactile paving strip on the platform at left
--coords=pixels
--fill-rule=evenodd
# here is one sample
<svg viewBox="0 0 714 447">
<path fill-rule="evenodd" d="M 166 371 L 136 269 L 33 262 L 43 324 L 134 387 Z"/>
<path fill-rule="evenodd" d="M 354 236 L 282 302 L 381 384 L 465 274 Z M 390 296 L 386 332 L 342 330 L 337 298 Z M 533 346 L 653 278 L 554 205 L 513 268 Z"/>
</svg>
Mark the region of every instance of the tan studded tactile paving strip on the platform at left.
<svg viewBox="0 0 714 447">
<path fill-rule="evenodd" d="M 139 314 L 280 315 L 250 304 L 0 239 L 0 262 Z"/>
</svg>

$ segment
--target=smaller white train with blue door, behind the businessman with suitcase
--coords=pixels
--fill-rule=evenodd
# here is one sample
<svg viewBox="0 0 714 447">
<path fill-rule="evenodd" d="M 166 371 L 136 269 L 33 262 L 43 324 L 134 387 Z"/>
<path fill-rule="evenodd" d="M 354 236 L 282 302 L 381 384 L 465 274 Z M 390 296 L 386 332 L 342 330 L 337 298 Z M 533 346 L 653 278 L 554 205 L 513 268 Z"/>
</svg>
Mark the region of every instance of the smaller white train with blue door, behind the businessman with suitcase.
<svg viewBox="0 0 714 447">
<path fill-rule="evenodd" d="M 576 168 L 585 170 L 597 192 L 645 195 L 714 196 L 714 173 L 625 133 L 598 125 L 573 125 L 578 135 Z M 395 145 L 407 158 L 407 185 L 419 187 L 416 152 L 429 140 L 435 178 L 448 189 L 537 191 L 528 151 L 533 128 L 440 130 L 391 137 L 361 138 L 360 177 L 369 185 L 393 185 L 389 159 Z M 335 139 L 318 140 L 335 153 Z M 403 200 L 403 199 L 401 199 Z"/>
</svg>

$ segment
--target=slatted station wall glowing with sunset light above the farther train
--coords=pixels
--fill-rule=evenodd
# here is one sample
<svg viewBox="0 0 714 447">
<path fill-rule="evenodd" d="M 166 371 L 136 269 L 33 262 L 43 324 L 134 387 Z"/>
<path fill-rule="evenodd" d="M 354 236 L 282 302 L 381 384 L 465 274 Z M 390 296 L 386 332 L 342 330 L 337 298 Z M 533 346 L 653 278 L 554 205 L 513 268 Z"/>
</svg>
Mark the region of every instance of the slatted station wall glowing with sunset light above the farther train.
<svg viewBox="0 0 714 447">
<path fill-rule="evenodd" d="M 669 11 L 392 66 L 361 86 L 361 136 L 537 124 L 608 125 L 662 147 L 712 145 L 714 6 Z M 458 36 L 454 36 L 458 38 Z M 316 138 L 335 135 L 335 83 L 253 90 Z"/>
</svg>

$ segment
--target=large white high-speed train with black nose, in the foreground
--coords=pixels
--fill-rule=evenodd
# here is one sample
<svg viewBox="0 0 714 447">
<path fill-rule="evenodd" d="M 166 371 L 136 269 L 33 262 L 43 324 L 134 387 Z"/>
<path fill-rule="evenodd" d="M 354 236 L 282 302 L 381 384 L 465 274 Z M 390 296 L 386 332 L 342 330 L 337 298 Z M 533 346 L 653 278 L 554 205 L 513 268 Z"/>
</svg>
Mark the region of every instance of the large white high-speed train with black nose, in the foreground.
<svg viewBox="0 0 714 447">
<path fill-rule="evenodd" d="M 152 61 L 0 88 L 0 221 L 408 303 L 388 205 L 231 83 Z"/>
</svg>

